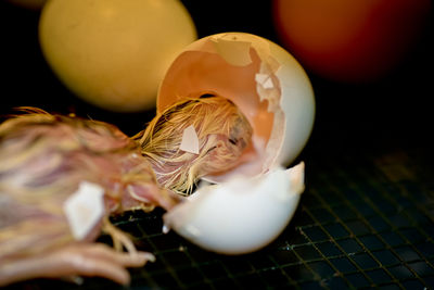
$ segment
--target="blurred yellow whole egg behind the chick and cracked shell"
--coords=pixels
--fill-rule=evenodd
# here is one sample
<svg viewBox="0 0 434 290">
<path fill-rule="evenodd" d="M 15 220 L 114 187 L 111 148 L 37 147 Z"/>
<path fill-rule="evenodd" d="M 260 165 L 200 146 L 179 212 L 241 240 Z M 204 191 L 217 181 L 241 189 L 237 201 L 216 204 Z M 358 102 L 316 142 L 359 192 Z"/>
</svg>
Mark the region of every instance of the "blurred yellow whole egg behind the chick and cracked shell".
<svg viewBox="0 0 434 290">
<path fill-rule="evenodd" d="M 117 112 L 155 106 L 167 67 L 194 39 L 178 0 L 50 0 L 39 23 L 43 55 L 63 84 Z"/>
</svg>

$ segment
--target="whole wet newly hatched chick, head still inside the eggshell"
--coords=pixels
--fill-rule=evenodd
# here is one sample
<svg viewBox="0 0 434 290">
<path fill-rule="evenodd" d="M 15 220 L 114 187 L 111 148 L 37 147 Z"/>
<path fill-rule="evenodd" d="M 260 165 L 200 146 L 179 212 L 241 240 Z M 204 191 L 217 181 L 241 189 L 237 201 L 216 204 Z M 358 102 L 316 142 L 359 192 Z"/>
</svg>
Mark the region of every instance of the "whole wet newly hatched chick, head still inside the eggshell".
<svg viewBox="0 0 434 290">
<path fill-rule="evenodd" d="M 108 216 L 154 206 L 169 211 L 180 201 L 176 193 L 191 193 L 200 177 L 242 162 L 252 137 L 246 117 L 218 96 L 175 103 L 132 138 L 103 122 L 22 111 L 0 125 L 0 286 L 64 275 L 128 282 L 125 267 L 153 256 L 138 252 Z M 180 150 L 189 126 L 197 133 L 199 154 Z M 76 240 L 63 205 L 84 181 L 103 189 L 104 214 Z M 117 253 L 95 248 L 102 230 Z"/>
</svg>

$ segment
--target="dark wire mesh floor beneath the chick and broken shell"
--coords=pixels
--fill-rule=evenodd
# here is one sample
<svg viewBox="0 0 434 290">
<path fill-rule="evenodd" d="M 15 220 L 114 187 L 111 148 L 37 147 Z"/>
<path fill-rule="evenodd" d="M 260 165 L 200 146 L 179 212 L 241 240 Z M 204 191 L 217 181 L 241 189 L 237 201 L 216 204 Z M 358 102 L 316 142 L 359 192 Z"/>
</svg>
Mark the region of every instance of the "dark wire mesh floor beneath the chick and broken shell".
<svg viewBox="0 0 434 290">
<path fill-rule="evenodd" d="M 115 217 L 140 250 L 157 259 L 130 269 L 128 288 L 434 288 L 434 182 L 423 154 L 316 156 L 306 164 L 307 188 L 293 220 L 253 254 L 218 255 L 163 235 L 158 210 Z M 42 279 L 10 288 L 23 287 L 76 288 Z M 123 289 L 99 278 L 86 278 L 80 288 Z"/>
</svg>

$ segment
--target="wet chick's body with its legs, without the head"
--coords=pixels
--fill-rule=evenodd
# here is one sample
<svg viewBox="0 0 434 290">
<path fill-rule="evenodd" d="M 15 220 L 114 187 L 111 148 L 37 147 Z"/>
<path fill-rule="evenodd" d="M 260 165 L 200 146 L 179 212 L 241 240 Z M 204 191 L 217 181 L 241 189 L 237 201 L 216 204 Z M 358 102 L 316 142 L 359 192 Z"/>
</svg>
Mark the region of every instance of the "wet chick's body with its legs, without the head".
<svg viewBox="0 0 434 290">
<path fill-rule="evenodd" d="M 29 109 L 0 125 L 0 286 L 36 277 L 101 276 L 128 283 L 125 267 L 153 260 L 107 216 L 171 209 L 137 142 L 116 127 Z M 77 239 L 63 210 L 84 182 L 103 189 L 103 215 Z M 114 251 L 95 243 L 110 234 Z M 123 252 L 125 248 L 128 253 Z"/>
</svg>

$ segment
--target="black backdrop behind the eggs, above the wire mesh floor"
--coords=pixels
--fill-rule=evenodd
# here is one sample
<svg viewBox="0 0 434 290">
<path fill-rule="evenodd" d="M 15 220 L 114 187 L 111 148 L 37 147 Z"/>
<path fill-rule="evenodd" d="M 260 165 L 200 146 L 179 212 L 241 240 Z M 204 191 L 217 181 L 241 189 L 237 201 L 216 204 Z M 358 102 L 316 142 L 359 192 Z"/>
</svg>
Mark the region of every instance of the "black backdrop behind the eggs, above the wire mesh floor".
<svg viewBox="0 0 434 290">
<path fill-rule="evenodd" d="M 271 1 L 182 1 L 199 37 L 245 31 L 280 43 Z M 248 11 L 247 11 L 248 10 Z M 117 125 L 128 135 L 142 129 L 154 111 L 111 113 L 73 96 L 53 75 L 38 43 L 39 11 L 0 0 L 1 114 L 20 105 L 50 112 L 75 112 Z M 432 17 L 399 66 L 375 83 L 333 83 L 307 71 L 317 102 L 314 133 L 306 150 L 340 154 L 343 150 L 430 148 L 433 133 Z"/>
</svg>

